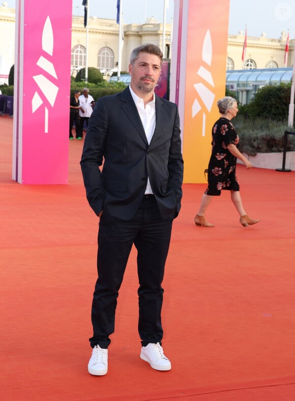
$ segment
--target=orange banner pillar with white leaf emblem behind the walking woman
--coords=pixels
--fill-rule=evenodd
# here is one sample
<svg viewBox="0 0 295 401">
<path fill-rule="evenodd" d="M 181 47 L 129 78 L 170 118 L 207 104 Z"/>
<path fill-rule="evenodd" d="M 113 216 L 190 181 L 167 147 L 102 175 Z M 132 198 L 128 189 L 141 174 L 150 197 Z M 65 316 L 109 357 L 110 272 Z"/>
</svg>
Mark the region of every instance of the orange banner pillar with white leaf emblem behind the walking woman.
<svg viewBox="0 0 295 401">
<path fill-rule="evenodd" d="M 179 56 L 178 47 L 175 63 L 176 67 L 183 66 L 178 74 L 181 84 L 176 78 L 179 93 L 175 94 L 175 101 L 183 99 L 179 108 L 183 119 L 184 182 L 204 183 L 212 126 L 219 118 L 216 103 L 225 96 L 229 0 L 176 0 L 174 7 L 174 32 L 178 32 L 179 38 L 181 35 L 179 43 L 185 48 Z"/>
</svg>

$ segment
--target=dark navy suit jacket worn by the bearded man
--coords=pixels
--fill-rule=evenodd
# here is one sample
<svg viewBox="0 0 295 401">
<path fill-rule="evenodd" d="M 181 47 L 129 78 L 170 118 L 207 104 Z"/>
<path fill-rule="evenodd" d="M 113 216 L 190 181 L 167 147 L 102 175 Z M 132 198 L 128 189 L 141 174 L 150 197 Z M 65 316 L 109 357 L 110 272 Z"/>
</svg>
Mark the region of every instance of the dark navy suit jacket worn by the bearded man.
<svg viewBox="0 0 295 401">
<path fill-rule="evenodd" d="M 158 96 L 155 106 L 156 128 L 149 145 L 129 88 L 96 102 L 80 164 L 86 196 L 97 215 L 103 210 L 131 219 L 147 176 L 161 216 L 178 215 L 183 181 L 178 109 Z"/>
</svg>

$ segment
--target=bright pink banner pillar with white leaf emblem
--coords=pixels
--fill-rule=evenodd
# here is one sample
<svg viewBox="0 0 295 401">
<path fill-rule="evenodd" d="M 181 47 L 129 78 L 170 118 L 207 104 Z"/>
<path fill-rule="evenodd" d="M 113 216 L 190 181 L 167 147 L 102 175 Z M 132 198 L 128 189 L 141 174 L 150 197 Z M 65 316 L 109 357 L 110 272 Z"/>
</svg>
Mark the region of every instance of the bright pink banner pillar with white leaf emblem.
<svg viewBox="0 0 295 401">
<path fill-rule="evenodd" d="M 72 0 L 20 0 L 18 7 L 13 178 L 67 184 Z"/>
</svg>

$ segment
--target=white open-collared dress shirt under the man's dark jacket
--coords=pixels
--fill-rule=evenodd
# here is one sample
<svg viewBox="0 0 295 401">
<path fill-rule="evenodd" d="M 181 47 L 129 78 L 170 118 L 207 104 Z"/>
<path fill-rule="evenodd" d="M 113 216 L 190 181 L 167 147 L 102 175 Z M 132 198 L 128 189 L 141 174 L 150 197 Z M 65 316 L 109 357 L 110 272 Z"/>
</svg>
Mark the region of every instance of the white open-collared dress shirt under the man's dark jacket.
<svg viewBox="0 0 295 401">
<path fill-rule="evenodd" d="M 131 96 L 134 100 L 135 106 L 138 110 L 139 117 L 146 135 L 147 143 L 150 145 L 152 137 L 154 135 L 156 127 L 156 106 L 155 106 L 155 94 L 153 94 L 153 100 L 147 103 L 144 107 L 143 99 L 139 98 L 131 89 L 129 85 Z M 146 189 L 144 192 L 147 194 L 152 194 L 153 190 L 151 187 L 150 179 L 147 177 Z"/>
</svg>

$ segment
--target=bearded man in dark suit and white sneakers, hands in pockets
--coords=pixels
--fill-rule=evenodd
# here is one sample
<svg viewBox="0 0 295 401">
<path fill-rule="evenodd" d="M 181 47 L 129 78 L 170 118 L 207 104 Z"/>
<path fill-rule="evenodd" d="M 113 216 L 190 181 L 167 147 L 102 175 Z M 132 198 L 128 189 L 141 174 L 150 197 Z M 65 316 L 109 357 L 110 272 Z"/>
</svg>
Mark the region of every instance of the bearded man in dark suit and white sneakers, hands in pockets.
<svg viewBox="0 0 295 401">
<path fill-rule="evenodd" d="M 92 375 L 107 373 L 117 296 L 133 244 L 140 358 L 154 369 L 171 369 L 161 346 L 161 283 L 172 221 L 181 208 L 183 158 L 178 109 L 154 94 L 162 59 L 153 44 L 132 51 L 130 87 L 97 101 L 85 137 L 83 180 L 88 202 L 100 218 L 88 363 Z"/>
</svg>

